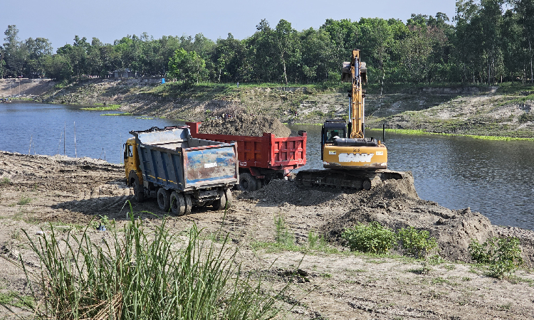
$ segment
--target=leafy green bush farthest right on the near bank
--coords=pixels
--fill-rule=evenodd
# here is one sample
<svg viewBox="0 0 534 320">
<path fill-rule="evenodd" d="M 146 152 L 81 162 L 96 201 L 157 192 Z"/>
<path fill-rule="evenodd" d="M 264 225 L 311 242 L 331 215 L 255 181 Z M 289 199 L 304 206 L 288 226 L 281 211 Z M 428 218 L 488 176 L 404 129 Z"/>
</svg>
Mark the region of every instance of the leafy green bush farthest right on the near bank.
<svg viewBox="0 0 534 320">
<path fill-rule="evenodd" d="M 503 279 L 523 264 L 518 238 L 493 237 L 482 244 L 473 239 L 468 250 L 473 260 L 488 265 L 487 274 L 490 277 Z"/>
</svg>

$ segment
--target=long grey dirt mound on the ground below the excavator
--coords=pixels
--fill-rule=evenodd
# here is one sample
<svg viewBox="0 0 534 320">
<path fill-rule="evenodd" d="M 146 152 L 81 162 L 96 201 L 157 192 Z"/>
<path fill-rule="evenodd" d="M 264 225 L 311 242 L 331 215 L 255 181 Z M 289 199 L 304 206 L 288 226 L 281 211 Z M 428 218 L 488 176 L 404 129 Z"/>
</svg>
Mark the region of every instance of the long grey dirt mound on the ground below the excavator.
<svg viewBox="0 0 534 320">
<path fill-rule="evenodd" d="M 379 181 L 370 191 L 299 188 L 292 181 L 278 180 L 240 197 L 258 199 L 266 206 L 308 206 L 310 215 L 328 216 L 320 230 L 334 241 L 340 241 L 344 228 L 358 222 L 377 221 L 394 230 L 408 226 L 427 230 L 436 238 L 441 257 L 451 261 L 470 262 L 471 239 L 483 242 L 496 235 L 490 220 L 481 213 L 469 208 L 451 210 L 420 199 L 412 175 L 405 176 Z"/>
</svg>

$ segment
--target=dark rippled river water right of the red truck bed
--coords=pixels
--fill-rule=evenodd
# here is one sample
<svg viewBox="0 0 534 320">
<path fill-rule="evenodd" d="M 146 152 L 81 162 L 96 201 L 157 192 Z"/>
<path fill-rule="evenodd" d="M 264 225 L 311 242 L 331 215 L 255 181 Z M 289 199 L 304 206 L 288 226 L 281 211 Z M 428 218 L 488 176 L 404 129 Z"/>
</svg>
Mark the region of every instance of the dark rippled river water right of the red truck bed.
<svg viewBox="0 0 534 320">
<path fill-rule="evenodd" d="M 320 126 L 308 132 L 308 164 L 322 169 Z M 382 137 L 382 131 L 367 136 Z M 412 171 L 419 196 L 451 209 L 471 207 L 496 225 L 534 230 L 534 142 L 387 134 L 389 169 Z"/>
</svg>

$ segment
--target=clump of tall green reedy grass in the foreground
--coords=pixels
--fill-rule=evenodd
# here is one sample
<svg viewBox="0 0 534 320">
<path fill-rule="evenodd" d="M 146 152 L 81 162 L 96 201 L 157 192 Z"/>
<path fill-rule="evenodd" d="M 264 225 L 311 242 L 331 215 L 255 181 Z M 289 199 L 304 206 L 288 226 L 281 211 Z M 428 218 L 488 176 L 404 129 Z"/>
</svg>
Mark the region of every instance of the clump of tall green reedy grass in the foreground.
<svg viewBox="0 0 534 320">
<path fill-rule="evenodd" d="M 41 319 L 271 319 L 286 289 L 266 289 L 241 270 L 227 236 L 203 240 L 196 226 L 185 240 L 165 220 L 149 231 L 133 218 L 109 241 L 87 229 L 26 237 L 42 267 L 22 264 L 36 301 L 25 308 Z"/>
</svg>

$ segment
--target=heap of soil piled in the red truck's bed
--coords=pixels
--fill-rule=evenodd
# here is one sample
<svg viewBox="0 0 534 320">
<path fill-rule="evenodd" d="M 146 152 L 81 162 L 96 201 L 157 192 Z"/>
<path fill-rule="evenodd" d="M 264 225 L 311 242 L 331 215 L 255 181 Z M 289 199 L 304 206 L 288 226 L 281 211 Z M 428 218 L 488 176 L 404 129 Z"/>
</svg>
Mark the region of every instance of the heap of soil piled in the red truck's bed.
<svg viewBox="0 0 534 320">
<path fill-rule="evenodd" d="M 275 134 L 277 138 L 289 137 L 291 129 L 272 117 L 238 114 L 236 117 L 211 119 L 202 122 L 201 134 L 232 134 L 261 137 L 263 132 Z"/>
</svg>

